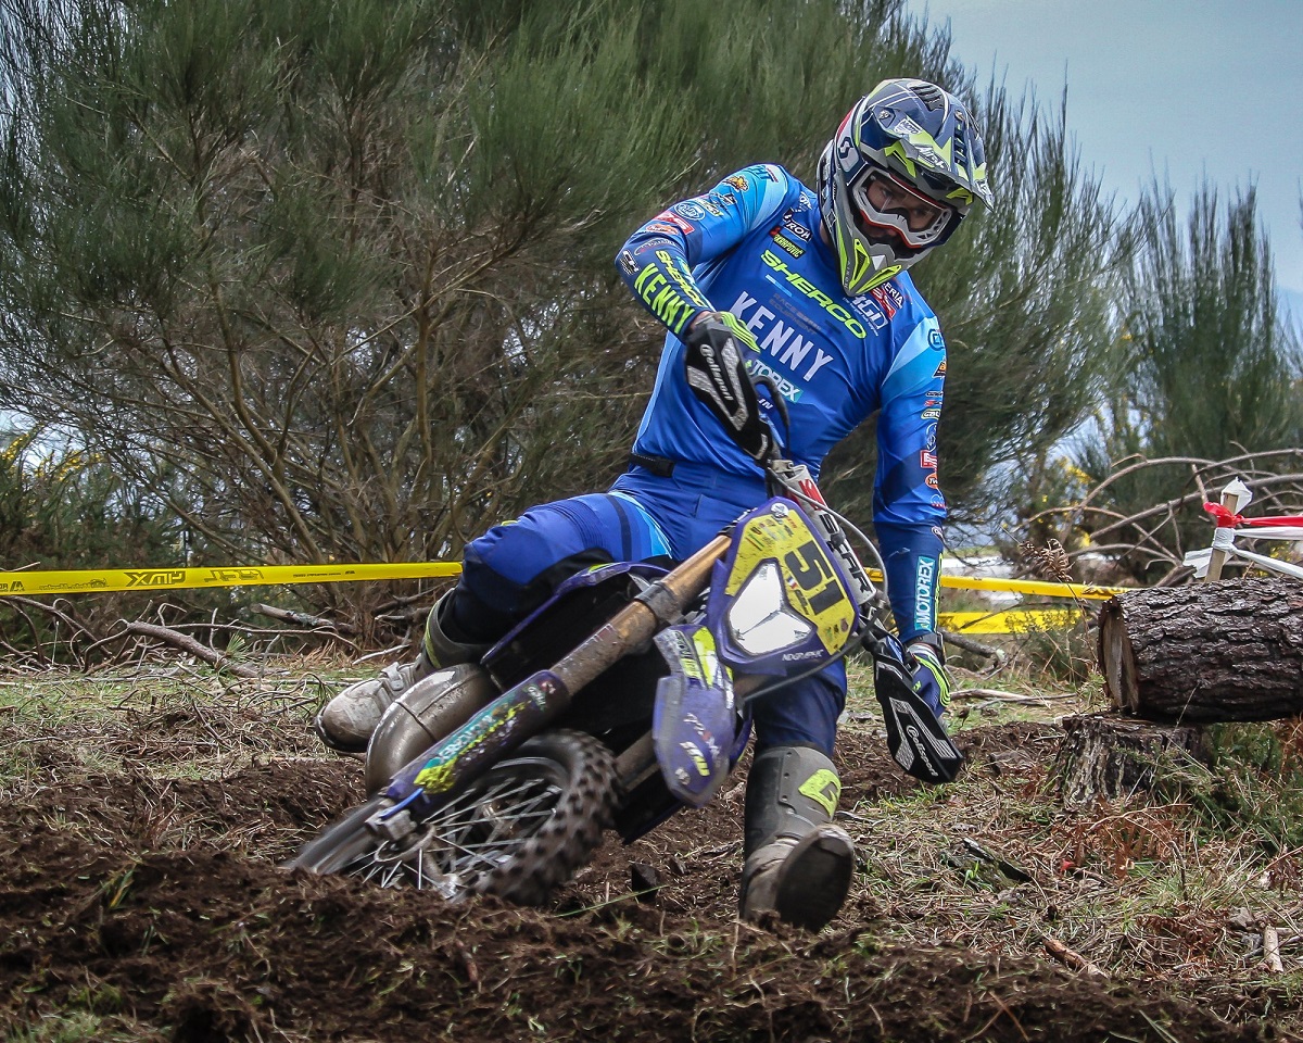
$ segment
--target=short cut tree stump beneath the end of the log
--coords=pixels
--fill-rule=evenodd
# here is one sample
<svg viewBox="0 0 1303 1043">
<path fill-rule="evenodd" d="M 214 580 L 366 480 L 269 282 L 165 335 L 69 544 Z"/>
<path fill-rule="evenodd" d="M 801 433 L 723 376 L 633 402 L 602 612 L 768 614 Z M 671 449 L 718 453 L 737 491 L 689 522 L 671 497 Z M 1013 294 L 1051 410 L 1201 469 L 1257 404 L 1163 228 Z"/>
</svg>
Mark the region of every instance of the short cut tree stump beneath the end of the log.
<svg viewBox="0 0 1303 1043">
<path fill-rule="evenodd" d="M 1200 727 L 1156 725 L 1115 713 L 1065 717 L 1062 724 L 1063 744 L 1053 773 L 1068 808 L 1149 790 L 1164 760 L 1204 756 Z"/>
</svg>

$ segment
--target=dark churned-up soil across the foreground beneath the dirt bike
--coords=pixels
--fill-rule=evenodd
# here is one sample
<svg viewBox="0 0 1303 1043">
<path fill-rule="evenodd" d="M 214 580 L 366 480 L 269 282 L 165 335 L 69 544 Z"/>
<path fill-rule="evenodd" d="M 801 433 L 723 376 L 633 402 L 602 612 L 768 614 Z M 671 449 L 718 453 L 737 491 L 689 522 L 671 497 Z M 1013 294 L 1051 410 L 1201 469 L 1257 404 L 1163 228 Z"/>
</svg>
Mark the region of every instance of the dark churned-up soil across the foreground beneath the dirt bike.
<svg viewBox="0 0 1303 1043">
<path fill-rule="evenodd" d="M 538 910 L 289 872 L 360 798 L 360 767 L 306 727 L 288 748 L 258 734 L 253 712 L 40 735 L 0 717 L 0 752 L 27 757 L 0 807 L 5 1043 L 1293 1038 L 1276 1020 L 1296 1023 L 1286 995 L 1105 980 L 1032 940 L 1022 956 L 890 940 L 900 913 L 859 888 L 817 937 L 739 923 L 740 785 L 628 849 L 610 841 Z M 968 729 L 967 771 L 1044 772 L 1057 735 Z M 232 746 L 246 755 L 202 771 Z M 868 733 L 846 737 L 842 771 L 872 855 L 874 808 L 913 784 Z"/>
</svg>

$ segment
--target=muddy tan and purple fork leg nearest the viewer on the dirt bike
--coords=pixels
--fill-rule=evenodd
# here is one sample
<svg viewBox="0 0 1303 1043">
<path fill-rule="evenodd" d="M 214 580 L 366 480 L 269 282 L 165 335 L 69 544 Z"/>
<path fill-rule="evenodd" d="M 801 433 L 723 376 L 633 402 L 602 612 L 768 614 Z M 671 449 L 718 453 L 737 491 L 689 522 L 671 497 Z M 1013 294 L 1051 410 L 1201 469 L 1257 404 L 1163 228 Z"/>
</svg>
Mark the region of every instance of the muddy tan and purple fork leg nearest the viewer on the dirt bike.
<svg viewBox="0 0 1303 1043">
<path fill-rule="evenodd" d="M 539 670 L 508 688 L 400 768 L 384 791 L 394 804 L 367 820 L 371 830 L 390 841 L 404 840 L 491 765 L 543 731 L 566 712 L 575 692 L 683 615 L 705 589 L 711 567 L 730 544 L 728 536 L 717 536 L 640 592 L 550 670 Z"/>
</svg>

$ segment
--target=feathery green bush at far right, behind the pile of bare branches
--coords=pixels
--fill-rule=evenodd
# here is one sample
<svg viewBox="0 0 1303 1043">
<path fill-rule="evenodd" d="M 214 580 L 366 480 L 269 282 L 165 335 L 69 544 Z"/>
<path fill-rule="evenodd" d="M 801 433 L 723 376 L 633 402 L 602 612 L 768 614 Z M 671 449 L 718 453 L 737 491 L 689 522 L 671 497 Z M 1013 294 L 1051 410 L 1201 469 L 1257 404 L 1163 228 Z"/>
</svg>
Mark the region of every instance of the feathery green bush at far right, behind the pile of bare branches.
<svg viewBox="0 0 1303 1043">
<path fill-rule="evenodd" d="M 1204 184 L 1184 224 L 1170 188 L 1151 186 L 1136 209 L 1136 250 L 1127 269 L 1119 345 L 1126 352 L 1092 437 L 1075 451 L 1087 485 L 1104 482 L 1093 506 L 1128 518 L 1199 493 L 1191 462 L 1220 462 L 1298 446 L 1303 430 L 1299 344 L 1280 321 L 1270 245 L 1253 190 L 1227 205 Z M 1145 460 L 1165 464 L 1136 467 Z M 1253 467 L 1289 467 L 1264 456 Z M 1207 494 L 1214 495 L 1216 490 Z M 1207 545 L 1195 497 L 1177 523 L 1149 536 L 1179 558 Z M 1145 527 L 1157 529 L 1162 518 Z M 1126 538 L 1130 531 L 1110 540 Z M 1148 557 L 1136 557 L 1139 579 Z"/>
</svg>

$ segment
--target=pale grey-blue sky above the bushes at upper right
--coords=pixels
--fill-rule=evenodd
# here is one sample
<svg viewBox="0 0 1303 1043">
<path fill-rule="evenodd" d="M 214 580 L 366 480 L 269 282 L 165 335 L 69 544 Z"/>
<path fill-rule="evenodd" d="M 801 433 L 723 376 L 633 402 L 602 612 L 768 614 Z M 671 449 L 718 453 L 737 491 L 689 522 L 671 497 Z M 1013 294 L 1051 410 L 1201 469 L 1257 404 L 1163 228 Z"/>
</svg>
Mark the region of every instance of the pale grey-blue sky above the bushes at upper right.
<svg viewBox="0 0 1303 1043">
<path fill-rule="evenodd" d="M 1303 0 L 907 0 L 951 27 L 952 53 L 1057 106 L 1110 190 L 1153 173 L 1178 201 L 1204 175 L 1227 197 L 1257 185 L 1277 284 L 1303 317 Z M 997 188 L 999 172 L 992 172 Z"/>
</svg>

